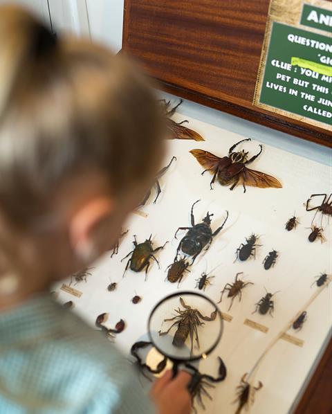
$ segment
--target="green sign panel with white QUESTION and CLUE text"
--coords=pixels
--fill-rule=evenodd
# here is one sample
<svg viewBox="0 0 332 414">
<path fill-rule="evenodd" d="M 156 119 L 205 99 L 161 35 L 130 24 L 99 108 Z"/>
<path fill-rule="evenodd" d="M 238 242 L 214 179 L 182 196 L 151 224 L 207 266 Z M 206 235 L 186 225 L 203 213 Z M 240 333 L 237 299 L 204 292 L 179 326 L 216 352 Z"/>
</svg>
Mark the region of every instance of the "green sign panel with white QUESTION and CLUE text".
<svg viewBox="0 0 332 414">
<path fill-rule="evenodd" d="M 332 125 L 332 39 L 274 22 L 259 102 Z"/>
</svg>

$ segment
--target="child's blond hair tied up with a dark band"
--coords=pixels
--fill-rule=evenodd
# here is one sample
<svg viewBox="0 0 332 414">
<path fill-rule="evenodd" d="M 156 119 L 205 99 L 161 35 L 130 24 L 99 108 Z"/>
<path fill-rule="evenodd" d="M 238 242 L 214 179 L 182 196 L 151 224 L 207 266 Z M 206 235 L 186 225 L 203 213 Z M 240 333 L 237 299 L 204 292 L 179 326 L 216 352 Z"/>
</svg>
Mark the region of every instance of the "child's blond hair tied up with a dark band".
<svg viewBox="0 0 332 414">
<path fill-rule="evenodd" d="M 136 65 L 0 6 L 0 213 L 10 222 L 43 213 L 56 186 L 86 168 L 120 193 L 147 177 L 162 135 Z"/>
</svg>

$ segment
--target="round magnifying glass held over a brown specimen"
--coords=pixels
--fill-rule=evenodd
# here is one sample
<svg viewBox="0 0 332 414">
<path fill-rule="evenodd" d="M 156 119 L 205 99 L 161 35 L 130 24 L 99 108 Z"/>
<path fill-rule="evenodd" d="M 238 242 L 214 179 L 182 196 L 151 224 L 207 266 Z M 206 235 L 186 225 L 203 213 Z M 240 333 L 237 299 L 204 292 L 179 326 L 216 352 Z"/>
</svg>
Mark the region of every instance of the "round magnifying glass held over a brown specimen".
<svg viewBox="0 0 332 414">
<path fill-rule="evenodd" d="M 148 321 L 151 343 L 160 354 L 178 364 L 205 359 L 218 345 L 223 318 L 210 298 L 192 291 L 166 296 L 152 309 Z"/>
</svg>

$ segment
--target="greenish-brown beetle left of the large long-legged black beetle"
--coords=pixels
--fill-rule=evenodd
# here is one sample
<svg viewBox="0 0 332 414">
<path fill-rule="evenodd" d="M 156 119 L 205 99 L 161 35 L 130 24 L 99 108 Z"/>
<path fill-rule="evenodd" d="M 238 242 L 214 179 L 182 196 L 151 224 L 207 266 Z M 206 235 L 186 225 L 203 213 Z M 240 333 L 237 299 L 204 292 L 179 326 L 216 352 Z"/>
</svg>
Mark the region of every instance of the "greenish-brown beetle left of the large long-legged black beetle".
<svg viewBox="0 0 332 414">
<path fill-rule="evenodd" d="M 130 269 L 132 271 L 139 272 L 139 271 L 142 271 L 142 269 L 145 268 L 145 280 L 147 280 L 147 270 L 149 269 L 151 258 L 156 260 L 156 262 L 158 264 L 158 267 L 159 267 L 159 262 L 154 257 L 154 253 L 156 253 L 160 249 L 163 249 L 165 247 L 165 244 L 167 244 L 168 242 L 166 242 L 163 246 L 160 246 L 160 247 L 157 247 L 156 249 L 153 249 L 152 242 L 151 242 L 151 237 L 152 237 L 152 235 L 150 235 L 149 239 L 145 240 L 145 242 L 138 244 L 138 242 L 136 240 L 136 235 L 133 236 L 133 245 L 135 246 L 135 249 L 133 249 L 130 253 L 127 254 L 127 256 L 125 256 L 122 259 L 122 260 L 124 260 L 129 255 L 131 255 L 131 258 L 127 262 L 126 269 L 124 269 L 124 273 L 126 273 L 128 267 L 129 267 L 129 264 L 130 264 Z M 121 262 L 122 262 L 122 260 L 121 260 Z M 124 273 L 123 273 L 123 276 L 124 276 Z"/>
</svg>

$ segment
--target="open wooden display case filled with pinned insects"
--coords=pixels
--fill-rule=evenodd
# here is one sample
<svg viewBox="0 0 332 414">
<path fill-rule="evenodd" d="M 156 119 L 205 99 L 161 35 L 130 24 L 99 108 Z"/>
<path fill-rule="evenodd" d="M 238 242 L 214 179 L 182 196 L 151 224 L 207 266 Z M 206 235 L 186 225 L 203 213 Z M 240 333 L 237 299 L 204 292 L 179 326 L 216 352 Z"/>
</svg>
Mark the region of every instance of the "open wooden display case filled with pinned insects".
<svg viewBox="0 0 332 414">
<path fill-rule="evenodd" d="M 151 377 L 169 368 L 151 357 L 151 309 L 203 292 L 224 326 L 212 354 L 187 367 L 196 411 L 305 413 L 309 399 L 320 411 L 332 354 L 331 132 L 252 105 L 268 1 L 124 3 L 123 50 L 166 91 L 167 151 L 116 249 L 60 286 L 59 300 L 76 296 L 73 312 Z"/>
</svg>

